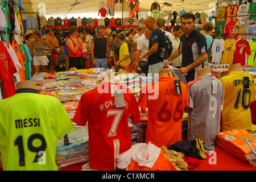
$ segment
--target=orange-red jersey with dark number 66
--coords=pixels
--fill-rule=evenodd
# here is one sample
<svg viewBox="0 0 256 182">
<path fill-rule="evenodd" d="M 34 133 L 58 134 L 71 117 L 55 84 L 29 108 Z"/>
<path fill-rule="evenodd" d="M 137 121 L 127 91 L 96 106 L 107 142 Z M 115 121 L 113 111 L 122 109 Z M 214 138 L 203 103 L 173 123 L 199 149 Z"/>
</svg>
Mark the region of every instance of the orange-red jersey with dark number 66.
<svg viewBox="0 0 256 182">
<path fill-rule="evenodd" d="M 160 77 L 142 88 L 138 105 L 142 113 L 148 108 L 146 143 L 169 147 L 181 140 L 181 120 L 188 91 L 184 82 L 180 82 L 182 94 L 176 94 L 175 80 L 178 79 Z"/>
</svg>

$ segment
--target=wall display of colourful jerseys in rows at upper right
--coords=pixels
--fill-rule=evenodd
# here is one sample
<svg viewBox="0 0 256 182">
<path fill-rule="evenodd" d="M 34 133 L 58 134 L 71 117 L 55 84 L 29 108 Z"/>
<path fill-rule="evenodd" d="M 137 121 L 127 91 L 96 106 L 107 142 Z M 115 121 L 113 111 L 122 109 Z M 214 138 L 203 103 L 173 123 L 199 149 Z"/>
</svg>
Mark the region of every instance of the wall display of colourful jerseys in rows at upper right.
<svg viewBox="0 0 256 182">
<path fill-rule="evenodd" d="M 217 37 L 213 40 L 212 63 L 256 65 L 255 7 L 255 2 L 247 1 L 217 7 Z"/>
</svg>

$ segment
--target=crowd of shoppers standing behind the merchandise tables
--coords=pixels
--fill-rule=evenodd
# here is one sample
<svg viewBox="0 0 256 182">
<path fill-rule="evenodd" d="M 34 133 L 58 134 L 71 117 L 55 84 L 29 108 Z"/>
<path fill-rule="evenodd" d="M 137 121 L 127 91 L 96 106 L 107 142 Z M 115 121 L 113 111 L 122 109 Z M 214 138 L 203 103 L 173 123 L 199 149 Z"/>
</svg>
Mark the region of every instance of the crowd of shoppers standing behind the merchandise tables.
<svg viewBox="0 0 256 182">
<path fill-rule="evenodd" d="M 85 28 L 79 33 L 78 28 L 72 26 L 69 36 L 65 39 L 66 65 L 70 69 L 89 68 L 113 68 L 119 66 L 121 69 L 131 72 L 135 68 L 138 73 L 158 73 L 164 67 L 172 65 L 180 68 L 180 73 L 187 73 L 187 81 L 196 77 L 196 70 L 203 67 L 210 59 L 210 49 L 213 42 L 213 24 L 206 22 L 201 31 L 195 28 L 195 15 L 185 13 L 181 16 L 181 24 L 172 28 L 172 32 L 165 30 L 166 20 L 164 18 L 154 19 L 148 16 L 144 24 L 138 27 L 135 34 L 134 28 L 129 33 L 118 28 L 117 31 L 109 33 L 103 25 L 96 29 L 95 36 L 89 34 Z M 156 52 L 162 39 L 161 32 L 172 42 L 172 54 L 167 60 L 161 59 Z M 34 38 L 33 41 L 31 39 Z M 40 31 L 28 32 L 26 42 L 30 53 L 34 57 L 33 72 L 53 72 L 57 62 L 59 43 L 51 28 L 46 28 L 44 36 Z M 197 46 L 195 46 L 195 44 Z M 33 73 L 32 73 L 33 74 Z"/>
</svg>

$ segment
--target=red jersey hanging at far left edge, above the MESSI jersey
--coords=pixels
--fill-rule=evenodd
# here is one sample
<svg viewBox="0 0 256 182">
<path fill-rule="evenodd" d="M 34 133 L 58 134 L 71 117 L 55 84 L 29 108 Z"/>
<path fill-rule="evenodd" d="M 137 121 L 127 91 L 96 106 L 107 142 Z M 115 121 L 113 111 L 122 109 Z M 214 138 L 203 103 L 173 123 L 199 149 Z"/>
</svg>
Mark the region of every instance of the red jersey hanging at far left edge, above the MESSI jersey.
<svg viewBox="0 0 256 182">
<path fill-rule="evenodd" d="M 9 52 L 5 45 L 0 41 L 0 80 L 3 85 L 3 94 L 5 98 L 11 97 L 15 94 L 15 84 L 13 75 L 16 73 L 16 68 L 11 59 Z"/>
</svg>

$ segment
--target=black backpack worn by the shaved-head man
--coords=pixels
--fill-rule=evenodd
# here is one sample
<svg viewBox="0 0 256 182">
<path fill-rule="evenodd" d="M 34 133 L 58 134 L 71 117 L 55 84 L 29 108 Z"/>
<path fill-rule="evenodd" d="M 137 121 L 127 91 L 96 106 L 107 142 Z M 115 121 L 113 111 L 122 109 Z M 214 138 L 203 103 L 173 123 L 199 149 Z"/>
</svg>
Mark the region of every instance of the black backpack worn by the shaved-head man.
<svg viewBox="0 0 256 182">
<path fill-rule="evenodd" d="M 168 36 L 165 34 L 166 32 L 160 30 L 158 28 L 160 36 L 160 44 L 158 47 L 157 55 L 160 57 L 160 59 L 167 59 L 171 56 L 172 53 L 172 42 L 168 38 Z"/>
</svg>

